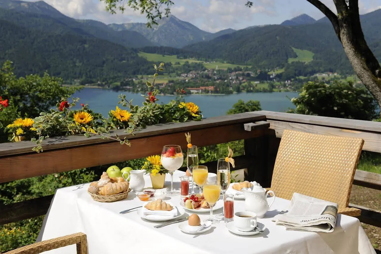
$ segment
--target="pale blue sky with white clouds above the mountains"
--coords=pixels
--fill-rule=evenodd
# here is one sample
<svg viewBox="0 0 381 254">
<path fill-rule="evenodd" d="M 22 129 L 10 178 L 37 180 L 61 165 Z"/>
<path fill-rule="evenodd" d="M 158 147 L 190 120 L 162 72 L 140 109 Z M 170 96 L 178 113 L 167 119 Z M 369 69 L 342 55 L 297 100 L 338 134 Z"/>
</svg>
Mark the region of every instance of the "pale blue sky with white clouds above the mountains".
<svg viewBox="0 0 381 254">
<path fill-rule="evenodd" d="M 30 0 L 29 0 L 30 1 Z M 106 24 L 146 22 L 143 15 L 132 10 L 109 14 L 99 0 L 45 0 L 62 13 L 77 19 L 96 19 Z M 245 7 L 246 0 L 173 0 L 172 14 L 209 32 L 226 28 L 279 24 L 306 13 L 320 19 L 323 14 L 306 0 L 252 0 L 253 7 Z M 335 11 L 332 0 L 321 0 Z M 381 8 L 380 0 L 359 0 L 360 13 Z"/>
</svg>

